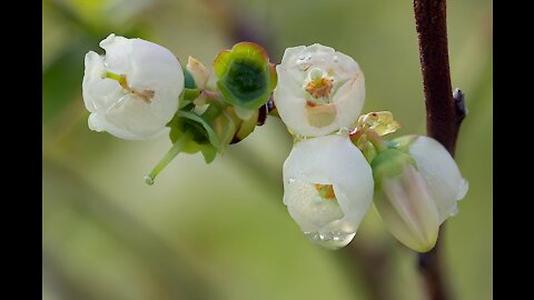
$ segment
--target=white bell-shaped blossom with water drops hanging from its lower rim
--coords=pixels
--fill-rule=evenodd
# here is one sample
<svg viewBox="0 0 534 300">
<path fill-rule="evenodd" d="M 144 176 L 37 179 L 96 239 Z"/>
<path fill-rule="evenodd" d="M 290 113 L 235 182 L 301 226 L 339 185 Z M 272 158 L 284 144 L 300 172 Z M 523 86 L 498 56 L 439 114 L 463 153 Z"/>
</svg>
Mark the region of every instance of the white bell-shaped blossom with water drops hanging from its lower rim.
<svg viewBox="0 0 534 300">
<path fill-rule="evenodd" d="M 345 247 L 372 201 L 372 169 L 347 136 L 294 144 L 284 163 L 284 203 L 313 242 L 328 249 Z"/>
</svg>

